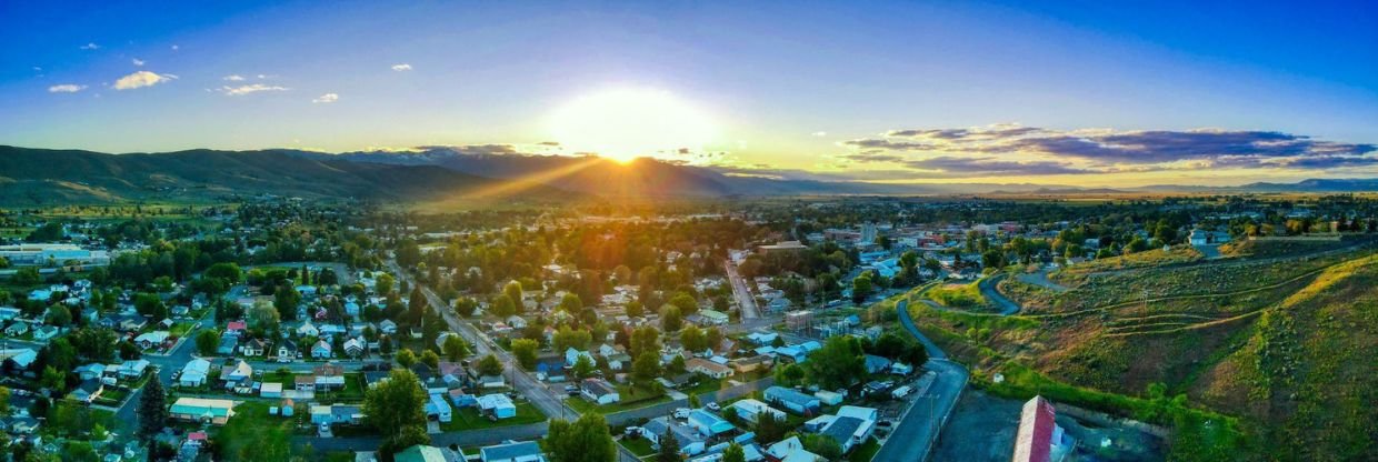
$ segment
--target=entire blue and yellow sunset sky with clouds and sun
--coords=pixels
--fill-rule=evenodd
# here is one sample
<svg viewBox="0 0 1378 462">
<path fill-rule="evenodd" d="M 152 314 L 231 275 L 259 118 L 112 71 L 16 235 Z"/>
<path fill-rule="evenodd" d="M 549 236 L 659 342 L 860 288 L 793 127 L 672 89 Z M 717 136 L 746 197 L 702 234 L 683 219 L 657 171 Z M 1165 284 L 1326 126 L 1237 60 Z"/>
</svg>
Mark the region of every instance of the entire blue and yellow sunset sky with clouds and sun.
<svg viewBox="0 0 1378 462">
<path fill-rule="evenodd" d="M 0 143 L 510 145 L 740 175 L 1378 174 L 1363 1 L 0 3 Z"/>
</svg>

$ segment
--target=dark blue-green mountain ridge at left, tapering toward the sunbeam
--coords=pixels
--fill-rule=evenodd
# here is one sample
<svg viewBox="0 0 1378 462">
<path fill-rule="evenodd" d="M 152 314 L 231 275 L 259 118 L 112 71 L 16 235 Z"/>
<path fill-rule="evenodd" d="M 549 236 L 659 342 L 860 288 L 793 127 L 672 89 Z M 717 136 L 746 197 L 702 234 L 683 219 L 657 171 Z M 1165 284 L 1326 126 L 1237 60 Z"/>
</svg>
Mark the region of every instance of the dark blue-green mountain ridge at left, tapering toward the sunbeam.
<svg viewBox="0 0 1378 462">
<path fill-rule="evenodd" d="M 260 193 L 375 201 L 431 201 L 485 190 L 526 199 L 568 196 L 539 185 L 506 186 L 435 165 L 356 163 L 294 150 L 106 154 L 0 146 L 0 204 L 6 205 L 207 201 Z"/>
</svg>

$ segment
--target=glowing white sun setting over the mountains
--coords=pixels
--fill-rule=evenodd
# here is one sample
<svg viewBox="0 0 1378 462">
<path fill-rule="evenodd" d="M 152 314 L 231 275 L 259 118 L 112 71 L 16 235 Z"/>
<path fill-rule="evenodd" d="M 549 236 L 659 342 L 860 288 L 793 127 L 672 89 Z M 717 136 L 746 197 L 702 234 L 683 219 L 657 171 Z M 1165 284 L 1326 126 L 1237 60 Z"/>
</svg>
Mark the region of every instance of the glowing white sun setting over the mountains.
<svg viewBox="0 0 1378 462">
<path fill-rule="evenodd" d="M 655 88 L 613 88 L 575 98 L 551 112 L 550 131 L 570 152 L 619 163 L 699 150 L 717 135 L 706 112 Z"/>
</svg>

